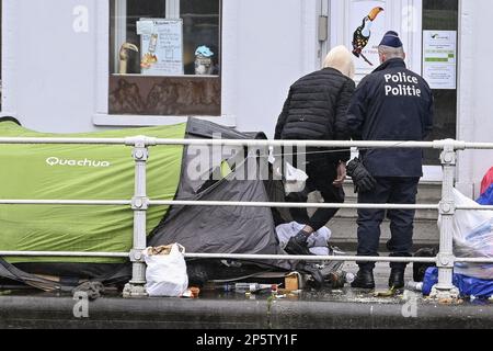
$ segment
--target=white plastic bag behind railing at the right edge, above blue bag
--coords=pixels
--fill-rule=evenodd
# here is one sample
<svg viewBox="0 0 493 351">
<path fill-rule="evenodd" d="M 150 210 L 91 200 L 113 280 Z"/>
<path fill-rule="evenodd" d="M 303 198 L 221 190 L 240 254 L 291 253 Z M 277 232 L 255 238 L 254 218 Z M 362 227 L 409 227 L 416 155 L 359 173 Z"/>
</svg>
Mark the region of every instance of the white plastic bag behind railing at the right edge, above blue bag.
<svg viewBox="0 0 493 351">
<path fill-rule="evenodd" d="M 458 190 L 454 190 L 454 196 L 457 206 L 480 206 Z M 454 253 L 459 258 L 493 258 L 493 211 L 456 212 Z M 455 272 L 481 280 L 493 280 L 493 264 L 457 263 Z"/>
</svg>

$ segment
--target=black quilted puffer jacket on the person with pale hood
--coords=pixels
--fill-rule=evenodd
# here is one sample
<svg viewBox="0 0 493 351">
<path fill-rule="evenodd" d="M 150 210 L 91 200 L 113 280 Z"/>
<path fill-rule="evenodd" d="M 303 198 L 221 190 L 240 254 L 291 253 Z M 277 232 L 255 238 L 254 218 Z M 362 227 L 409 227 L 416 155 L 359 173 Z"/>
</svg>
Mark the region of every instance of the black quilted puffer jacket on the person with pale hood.
<svg viewBox="0 0 493 351">
<path fill-rule="evenodd" d="M 348 140 L 347 107 L 355 90 L 352 79 L 334 68 L 302 77 L 289 90 L 275 138 L 284 140 Z M 328 152 L 347 161 L 351 152 Z"/>
</svg>

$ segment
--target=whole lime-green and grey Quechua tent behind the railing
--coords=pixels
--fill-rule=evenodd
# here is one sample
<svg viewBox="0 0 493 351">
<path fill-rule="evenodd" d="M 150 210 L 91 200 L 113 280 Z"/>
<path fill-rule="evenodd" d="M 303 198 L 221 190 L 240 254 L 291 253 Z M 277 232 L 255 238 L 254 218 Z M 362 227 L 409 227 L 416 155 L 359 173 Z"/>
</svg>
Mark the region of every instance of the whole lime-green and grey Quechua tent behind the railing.
<svg viewBox="0 0 493 351">
<path fill-rule="evenodd" d="M 46 134 L 28 131 L 10 118 L 0 120 L 0 137 L 251 139 L 214 123 L 188 123 L 89 134 Z M 202 149 L 204 150 L 204 148 Z M 147 192 L 152 200 L 279 201 L 278 183 L 236 180 L 226 157 L 206 147 L 218 169 L 202 169 L 190 178 L 196 150 L 183 146 L 150 148 Z M 135 162 L 131 147 L 102 145 L 0 145 L 0 199 L 3 200 L 130 200 Z M 276 192 L 277 189 L 277 192 Z M 180 242 L 188 252 L 278 253 L 276 211 L 252 207 L 151 206 L 147 216 L 148 245 Z M 129 206 L 0 205 L 0 251 L 128 252 L 134 214 Z M 5 258 L 28 273 L 94 279 L 128 262 L 103 258 Z M 12 267 L 13 267 L 12 265 Z M 1 276 L 0 265 L 0 276 Z M 9 274 L 3 274 L 9 276 Z"/>
</svg>

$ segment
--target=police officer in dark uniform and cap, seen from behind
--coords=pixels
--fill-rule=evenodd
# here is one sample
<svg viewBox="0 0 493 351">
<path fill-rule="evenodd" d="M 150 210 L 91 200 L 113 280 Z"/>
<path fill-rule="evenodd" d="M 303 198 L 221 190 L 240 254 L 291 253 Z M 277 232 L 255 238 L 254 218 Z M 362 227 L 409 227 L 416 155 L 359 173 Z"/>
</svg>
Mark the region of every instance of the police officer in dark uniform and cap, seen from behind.
<svg viewBox="0 0 493 351">
<path fill-rule="evenodd" d="M 379 47 L 381 65 L 359 83 L 348 110 L 348 127 L 358 140 L 423 140 L 433 128 L 433 95 L 426 81 L 405 67 L 398 33 L 388 32 Z M 358 203 L 415 204 L 423 177 L 421 149 L 366 149 L 348 165 Z M 391 257 L 411 257 L 415 211 L 388 211 Z M 358 256 L 377 256 L 383 210 L 358 211 Z M 375 263 L 358 262 L 352 284 L 375 288 Z M 406 264 L 392 263 L 389 287 L 404 286 Z"/>
</svg>

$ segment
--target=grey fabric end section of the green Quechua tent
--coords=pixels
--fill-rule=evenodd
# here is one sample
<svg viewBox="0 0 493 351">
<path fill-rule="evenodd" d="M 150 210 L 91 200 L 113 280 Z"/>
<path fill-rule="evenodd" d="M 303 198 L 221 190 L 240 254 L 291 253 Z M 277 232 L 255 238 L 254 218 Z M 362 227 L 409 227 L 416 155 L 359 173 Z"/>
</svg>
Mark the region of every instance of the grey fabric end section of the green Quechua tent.
<svg viewBox="0 0 493 351">
<path fill-rule="evenodd" d="M 191 120 L 187 127 L 188 138 L 251 139 L 265 138 L 264 135 L 241 134 L 209 122 Z M 236 148 L 239 151 L 240 148 Z M 195 179 L 187 171 L 197 150 L 185 149 L 181 182 L 176 200 L 188 201 L 241 201 L 268 202 L 270 189 L 262 180 L 240 180 L 233 171 L 216 182 L 209 182 L 214 167 L 202 170 L 205 177 Z M 202 148 L 209 152 L 209 159 L 227 158 L 220 148 Z M 255 161 L 251 158 L 249 161 Z M 220 166 L 217 165 L 219 172 Z M 238 170 L 237 170 L 238 171 Z M 206 186 L 206 184 L 208 184 Z M 153 230 L 151 246 L 180 242 L 188 252 L 199 253 L 249 253 L 277 254 L 279 246 L 275 233 L 275 223 L 271 208 L 256 207 L 204 207 L 175 206 L 171 208 L 164 220 Z"/>
</svg>

